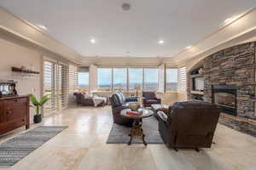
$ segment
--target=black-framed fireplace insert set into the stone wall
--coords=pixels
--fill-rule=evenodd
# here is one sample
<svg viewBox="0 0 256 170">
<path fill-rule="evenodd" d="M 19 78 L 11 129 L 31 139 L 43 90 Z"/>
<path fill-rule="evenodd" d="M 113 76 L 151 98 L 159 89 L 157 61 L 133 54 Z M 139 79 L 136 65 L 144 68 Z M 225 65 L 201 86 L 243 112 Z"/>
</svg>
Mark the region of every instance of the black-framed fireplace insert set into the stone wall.
<svg viewBox="0 0 256 170">
<path fill-rule="evenodd" d="M 212 103 L 222 108 L 224 113 L 237 116 L 236 85 L 213 85 Z"/>
</svg>

